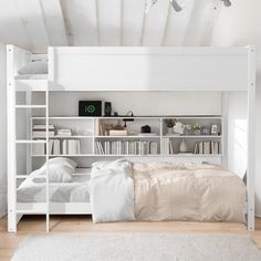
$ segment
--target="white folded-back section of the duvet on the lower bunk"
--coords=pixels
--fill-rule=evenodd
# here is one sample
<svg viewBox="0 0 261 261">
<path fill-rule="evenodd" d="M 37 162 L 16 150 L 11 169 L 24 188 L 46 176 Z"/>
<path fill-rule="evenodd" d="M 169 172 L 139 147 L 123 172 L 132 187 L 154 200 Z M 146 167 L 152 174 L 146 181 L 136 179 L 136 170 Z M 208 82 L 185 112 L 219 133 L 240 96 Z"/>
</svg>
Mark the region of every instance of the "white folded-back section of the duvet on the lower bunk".
<svg viewBox="0 0 261 261">
<path fill-rule="evenodd" d="M 134 220 L 132 164 L 123 159 L 93 164 L 90 198 L 95 223 Z"/>
</svg>

